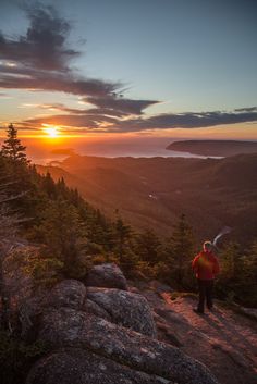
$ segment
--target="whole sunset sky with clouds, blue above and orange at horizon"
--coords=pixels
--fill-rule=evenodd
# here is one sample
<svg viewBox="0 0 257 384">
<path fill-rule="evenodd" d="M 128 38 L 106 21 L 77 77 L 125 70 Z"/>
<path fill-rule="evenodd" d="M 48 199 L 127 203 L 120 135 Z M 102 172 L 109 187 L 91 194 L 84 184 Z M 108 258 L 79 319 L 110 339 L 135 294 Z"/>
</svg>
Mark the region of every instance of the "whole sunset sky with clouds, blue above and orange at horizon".
<svg viewBox="0 0 257 384">
<path fill-rule="evenodd" d="M 0 0 L 0 134 L 257 140 L 256 38 L 256 0 Z"/>
</svg>

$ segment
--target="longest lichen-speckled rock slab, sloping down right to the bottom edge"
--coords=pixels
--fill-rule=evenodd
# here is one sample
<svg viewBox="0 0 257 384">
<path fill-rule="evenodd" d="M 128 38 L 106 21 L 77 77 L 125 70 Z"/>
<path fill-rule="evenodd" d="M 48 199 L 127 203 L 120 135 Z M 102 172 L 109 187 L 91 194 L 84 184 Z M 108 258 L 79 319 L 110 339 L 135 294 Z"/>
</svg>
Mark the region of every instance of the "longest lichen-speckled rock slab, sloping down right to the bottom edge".
<svg viewBox="0 0 257 384">
<path fill-rule="evenodd" d="M 205 366 L 180 349 L 71 308 L 52 309 L 45 313 L 39 338 L 53 348 L 90 350 L 135 371 L 179 384 L 218 383 Z"/>
</svg>

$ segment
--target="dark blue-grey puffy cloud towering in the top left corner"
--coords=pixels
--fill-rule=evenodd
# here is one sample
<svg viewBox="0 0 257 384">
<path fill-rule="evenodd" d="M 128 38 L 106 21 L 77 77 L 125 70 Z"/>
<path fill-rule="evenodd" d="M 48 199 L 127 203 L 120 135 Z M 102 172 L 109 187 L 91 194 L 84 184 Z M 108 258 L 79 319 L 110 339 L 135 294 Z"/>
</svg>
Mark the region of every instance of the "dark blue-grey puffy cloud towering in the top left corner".
<svg viewBox="0 0 257 384">
<path fill-rule="evenodd" d="M 0 34 L 0 58 L 48 71 L 68 71 L 68 63 L 79 52 L 66 47 L 71 29 L 68 21 L 48 5 L 25 8 L 30 26 L 25 36 L 8 39 Z"/>
</svg>

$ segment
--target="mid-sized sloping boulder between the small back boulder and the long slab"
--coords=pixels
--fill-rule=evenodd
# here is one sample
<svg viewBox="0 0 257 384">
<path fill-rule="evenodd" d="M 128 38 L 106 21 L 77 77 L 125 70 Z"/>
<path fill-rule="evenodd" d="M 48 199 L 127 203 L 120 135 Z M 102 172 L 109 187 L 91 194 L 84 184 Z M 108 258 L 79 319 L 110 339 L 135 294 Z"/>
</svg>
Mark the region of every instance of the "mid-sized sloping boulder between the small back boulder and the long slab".
<svg viewBox="0 0 257 384">
<path fill-rule="evenodd" d="M 115 288 L 89 287 L 87 297 L 109 313 L 111 322 L 147 336 L 157 336 L 151 309 L 144 296 Z"/>
</svg>

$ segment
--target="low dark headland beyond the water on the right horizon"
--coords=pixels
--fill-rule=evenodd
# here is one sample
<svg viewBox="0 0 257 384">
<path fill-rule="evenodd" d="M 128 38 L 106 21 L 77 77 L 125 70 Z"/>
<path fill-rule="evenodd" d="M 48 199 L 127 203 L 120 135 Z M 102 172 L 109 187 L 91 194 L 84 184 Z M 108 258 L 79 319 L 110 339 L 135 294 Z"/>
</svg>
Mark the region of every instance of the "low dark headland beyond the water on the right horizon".
<svg viewBox="0 0 257 384">
<path fill-rule="evenodd" d="M 257 141 L 183 140 L 174 141 L 166 149 L 203 156 L 228 157 L 241 153 L 257 153 Z"/>
</svg>

